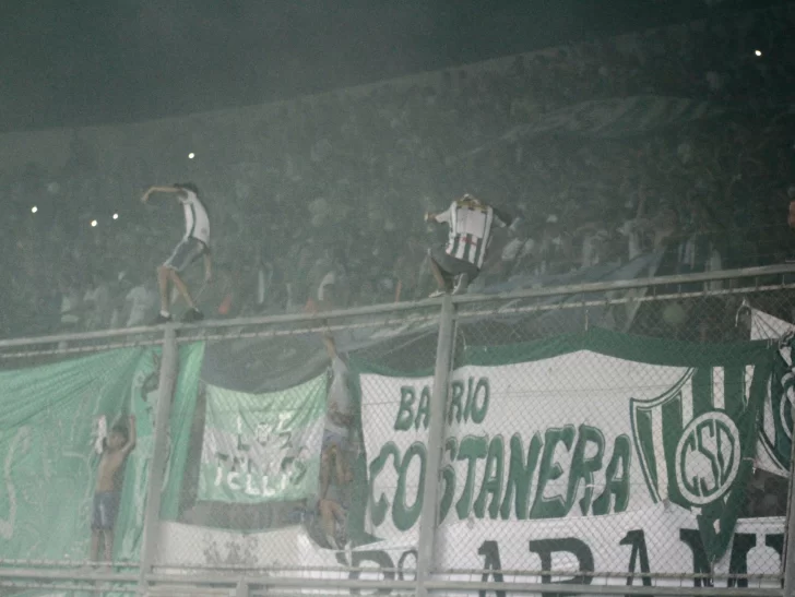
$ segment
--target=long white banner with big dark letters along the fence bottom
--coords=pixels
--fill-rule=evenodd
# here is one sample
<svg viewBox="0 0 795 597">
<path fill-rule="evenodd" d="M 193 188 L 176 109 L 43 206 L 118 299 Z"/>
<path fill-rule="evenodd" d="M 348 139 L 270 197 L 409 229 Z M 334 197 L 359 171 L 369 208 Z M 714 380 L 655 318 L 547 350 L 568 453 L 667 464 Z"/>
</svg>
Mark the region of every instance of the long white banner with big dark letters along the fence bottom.
<svg viewBox="0 0 795 597">
<path fill-rule="evenodd" d="M 726 554 L 715 562 L 713 585 L 735 586 L 732 583 L 737 581 L 729 581 L 726 575 L 752 574 L 769 577 L 754 578 L 747 586 L 780 586 L 774 576 L 781 566 L 783 533 L 783 517 L 739 520 Z M 274 575 L 299 574 L 306 578 L 411 581 L 417 565 L 417 536 L 408 533 L 404 539 L 334 551 L 319 548 L 299 526 L 244 534 L 164 523 L 157 562 L 165 568 L 272 569 Z M 447 525 L 440 534 L 437 558 L 437 568 L 441 571 L 484 572 L 475 575 L 447 572 L 437 574 L 435 580 L 626 585 L 632 574 L 636 586 L 679 586 L 681 580 L 667 581 L 654 575 L 710 573 L 696 517 L 678 506 L 663 505 L 600 517 L 493 523 L 487 533 L 478 533 L 471 524 L 460 522 Z M 296 566 L 307 570 L 288 570 Z M 332 570 L 340 566 L 370 572 Z M 542 569 L 551 569 L 558 574 L 545 576 L 538 573 Z M 600 578 L 588 574 L 594 571 L 616 575 Z M 644 578 L 644 574 L 649 576 Z M 330 593 L 347 594 L 331 588 L 324 592 Z"/>
</svg>

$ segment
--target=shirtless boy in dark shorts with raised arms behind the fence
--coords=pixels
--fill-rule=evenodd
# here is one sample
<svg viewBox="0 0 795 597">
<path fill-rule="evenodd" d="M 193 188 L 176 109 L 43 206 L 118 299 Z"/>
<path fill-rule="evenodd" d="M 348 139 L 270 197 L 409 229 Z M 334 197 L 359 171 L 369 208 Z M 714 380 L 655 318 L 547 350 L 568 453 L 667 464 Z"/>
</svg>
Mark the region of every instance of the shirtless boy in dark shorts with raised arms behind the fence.
<svg viewBox="0 0 795 597">
<path fill-rule="evenodd" d="M 117 423 L 110 430 L 105 451 L 99 461 L 94 491 L 94 508 L 91 521 L 91 559 L 99 559 L 99 539 L 105 539 L 105 561 L 110 561 L 114 551 L 114 525 L 119 505 L 120 483 L 118 482 L 127 456 L 135 447 L 135 418 L 130 416 L 130 427 Z"/>
</svg>

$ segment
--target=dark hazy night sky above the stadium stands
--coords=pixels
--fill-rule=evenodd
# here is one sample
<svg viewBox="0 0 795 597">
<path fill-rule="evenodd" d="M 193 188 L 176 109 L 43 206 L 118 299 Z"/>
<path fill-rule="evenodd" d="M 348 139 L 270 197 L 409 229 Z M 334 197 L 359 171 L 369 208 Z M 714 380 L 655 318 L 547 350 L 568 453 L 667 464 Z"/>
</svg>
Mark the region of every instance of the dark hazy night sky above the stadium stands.
<svg viewBox="0 0 795 597">
<path fill-rule="evenodd" d="M 780 2 L 723 0 L 716 10 L 771 3 Z M 710 13 L 702 0 L 0 0 L 0 131 L 257 104 Z"/>
</svg>

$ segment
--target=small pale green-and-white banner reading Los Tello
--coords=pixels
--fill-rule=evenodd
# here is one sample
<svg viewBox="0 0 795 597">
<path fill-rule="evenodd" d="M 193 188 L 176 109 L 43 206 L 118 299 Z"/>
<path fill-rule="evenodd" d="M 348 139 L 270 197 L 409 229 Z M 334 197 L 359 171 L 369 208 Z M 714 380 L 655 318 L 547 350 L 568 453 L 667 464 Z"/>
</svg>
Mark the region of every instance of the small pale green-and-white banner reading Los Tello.
<svg viewBox="0 0 795 597">
<path fill-rule="evenodd" d="M 301 500 L 317 491 L 325 377 L 266 394 L 206 387 L 199 499 Z"/>
</svg>

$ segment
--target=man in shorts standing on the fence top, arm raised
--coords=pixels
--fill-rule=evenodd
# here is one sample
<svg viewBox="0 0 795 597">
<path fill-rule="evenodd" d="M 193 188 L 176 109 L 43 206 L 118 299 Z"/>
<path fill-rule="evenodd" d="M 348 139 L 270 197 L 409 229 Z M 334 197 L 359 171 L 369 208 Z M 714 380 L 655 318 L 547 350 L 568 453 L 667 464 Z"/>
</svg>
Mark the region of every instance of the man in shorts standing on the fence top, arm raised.
<svg viewBox="0 0 795 597">
<path fill-rule="evenodd" d="M 171 321 L 168 305 L 168 283 L 171 282 L 188 303 L 182 321 L 200 321 L 204 319 L 197 309 L 188 287 L 179 274 L 200 256 L 204 258 L 204 284 L 212 280 L 212 260 L 210 259 L 210 217 L 207 210 L 199 199 L 199 189 L 192 182 L 176 183 L 170 187 L 151 187 L 141 198 L 146 203 L 152 193 L 174 193 L 182 204 L 185 212 L 185 236 L 174 249 L 171 256 L 157 267 L 157 283 L 161 289 L 161 312 L 155 323 Z"/>
</svg>

